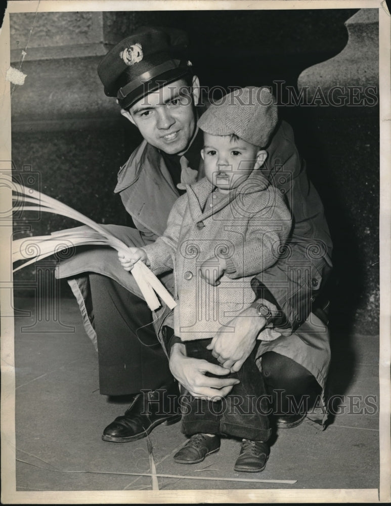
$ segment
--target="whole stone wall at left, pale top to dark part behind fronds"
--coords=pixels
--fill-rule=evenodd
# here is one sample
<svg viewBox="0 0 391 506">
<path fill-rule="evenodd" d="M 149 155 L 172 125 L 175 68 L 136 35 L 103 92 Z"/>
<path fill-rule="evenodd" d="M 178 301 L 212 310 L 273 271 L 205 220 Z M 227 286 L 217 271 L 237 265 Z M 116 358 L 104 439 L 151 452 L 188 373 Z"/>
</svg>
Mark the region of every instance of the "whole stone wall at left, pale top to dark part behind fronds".
<svg viewBox="0 0 391 506">
<path fill-rule="evenodd" d="M 122 17 L 122 29 L 132 26 L 132 15 Z M 116 16 L 10 15 L 11 65 L 26 74 L 24 85 L 11 86 L 12 157 L 19 182 L 28 186 L 33 175 L 33 188 L 95 221 L 131 224 L 113 188 L 139 135 L 119 114 L 115 99 L 105 96 L 97 74 L 102 56 L 121 38 L 116 33 L 118 39 L 112 39 Z M 32 213 L 17 218 L 15 237 L 22 235 L 18 229 L 33 236 L 79 225 L 47 213 L 34 218 Z M 15 273 L 16 293 L 37 275 L 34 265 Z"/>
</svg>

